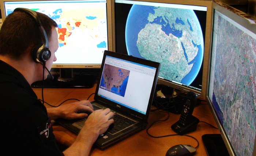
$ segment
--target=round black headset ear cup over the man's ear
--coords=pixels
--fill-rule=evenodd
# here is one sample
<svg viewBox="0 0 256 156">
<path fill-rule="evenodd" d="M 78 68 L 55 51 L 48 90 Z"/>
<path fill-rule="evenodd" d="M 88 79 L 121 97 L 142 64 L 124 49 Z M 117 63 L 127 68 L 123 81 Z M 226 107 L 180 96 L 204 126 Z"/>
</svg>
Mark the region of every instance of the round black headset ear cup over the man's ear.
<svg viewBox="0 0 256 156">
<path fill-rule="evenodd" d="M 32 50 L 32 58 L 37 63 L 46 62 L 51 56 L 50 49 L 44 44 L 37 44 Z"/>
</svg>

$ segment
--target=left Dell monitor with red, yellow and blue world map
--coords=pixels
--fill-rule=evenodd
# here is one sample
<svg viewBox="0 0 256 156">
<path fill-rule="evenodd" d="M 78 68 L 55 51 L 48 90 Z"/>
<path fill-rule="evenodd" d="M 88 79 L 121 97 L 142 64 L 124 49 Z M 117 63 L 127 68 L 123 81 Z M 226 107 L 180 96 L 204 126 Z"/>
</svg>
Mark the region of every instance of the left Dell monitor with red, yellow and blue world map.
<svg viewBox="0 0 256 156">
<path fill-rule="evenodd" d="M 3 0 L 0 4 L 3 20 L 18 7 L 44 13 L 55 20 L 59 49 L 52 67 L 60 69 L 61 76 L 57 76 L 62 82 L 76 78 L 72 69 L 99 69 L 104 50 L 112 50 L 110 5 L 110 0 Z M 80 83 L 86 83 L 83 81 L 89 80 L 82 79 Z M 80 86 L 74 82 L 71 85 Z M 59 87 L 65 87 L 65 83 Z"/>
</svg>

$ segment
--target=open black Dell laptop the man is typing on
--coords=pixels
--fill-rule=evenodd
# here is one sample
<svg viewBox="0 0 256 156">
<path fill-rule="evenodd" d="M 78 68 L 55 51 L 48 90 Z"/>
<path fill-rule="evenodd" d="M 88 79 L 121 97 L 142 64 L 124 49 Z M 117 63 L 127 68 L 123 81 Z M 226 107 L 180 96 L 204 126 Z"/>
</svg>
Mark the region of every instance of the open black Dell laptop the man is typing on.
<svg viewBox="0 0 256 156">
<path fill-rule="evenodd" d="M 147 127 L 160 63 L 117 52 L 104 51 L 99 79 L 91 104 L 96 109 L 110 108 L 114 124 L 95 142 L 104 149 Z M 60 125 L 78 134 L 82 120 L 58 119 Z"/>
</svg>

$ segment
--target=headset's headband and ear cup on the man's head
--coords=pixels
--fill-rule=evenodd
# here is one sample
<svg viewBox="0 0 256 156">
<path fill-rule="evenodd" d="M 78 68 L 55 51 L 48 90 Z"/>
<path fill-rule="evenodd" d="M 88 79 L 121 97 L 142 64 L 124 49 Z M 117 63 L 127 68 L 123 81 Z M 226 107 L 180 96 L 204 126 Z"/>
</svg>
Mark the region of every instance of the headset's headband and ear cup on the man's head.
<svg viewBox="0 0 256 156">
<path fill-rule="evenodd" d="M 31 17 L 33 17 L 33 19 L 35 20 L 35 22 L 37 23 L 39 30 L 42 34 L 42 38 L 44 40 L 43 44 L 36 44 L 33 49 L 32 49 L 32 58 L 36 63 L 45 63 L 46 61 L 49 60 L 50 56 L 51 56 L 51 51 L 49 49 L 49 41 L 45 32 L 44 27 L 42 26 L 41 21 L 38 18 L 38 15 L 35 11 L 32 11 L 30 9 L 27 8 L 16 8 L 14 9 L 15 11 L 22 11 L 25 12 L 27 14 L 29 14 Z"/>
</svg>

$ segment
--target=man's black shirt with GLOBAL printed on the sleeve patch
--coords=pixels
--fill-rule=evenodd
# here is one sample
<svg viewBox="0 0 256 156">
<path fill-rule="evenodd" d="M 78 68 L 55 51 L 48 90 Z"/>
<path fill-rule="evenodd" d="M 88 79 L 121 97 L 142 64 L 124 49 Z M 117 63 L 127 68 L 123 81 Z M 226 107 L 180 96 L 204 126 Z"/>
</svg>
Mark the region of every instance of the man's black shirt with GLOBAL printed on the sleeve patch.
<svg viewBox="0 0 256 156">
<path fill-rule="evenodd" d="M 19 71 L 0 60 L 0 155 L 63 155 L 45 106 Z"/>
</svg>

